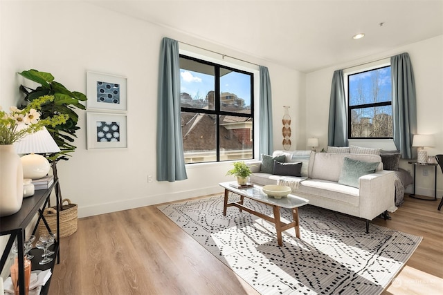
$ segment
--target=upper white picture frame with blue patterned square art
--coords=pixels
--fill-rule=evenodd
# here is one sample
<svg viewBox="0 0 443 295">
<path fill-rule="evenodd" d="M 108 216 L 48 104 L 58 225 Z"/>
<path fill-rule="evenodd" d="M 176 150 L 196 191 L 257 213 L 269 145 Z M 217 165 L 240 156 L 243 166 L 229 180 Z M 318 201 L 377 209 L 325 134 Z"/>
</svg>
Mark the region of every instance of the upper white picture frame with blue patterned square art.
<svg viewBox="0 0 443 295">
<path fill-rule="evenodd" d="M 87 72 L 87 108 L 127 111 L 127 78 Z"/>
</svg>

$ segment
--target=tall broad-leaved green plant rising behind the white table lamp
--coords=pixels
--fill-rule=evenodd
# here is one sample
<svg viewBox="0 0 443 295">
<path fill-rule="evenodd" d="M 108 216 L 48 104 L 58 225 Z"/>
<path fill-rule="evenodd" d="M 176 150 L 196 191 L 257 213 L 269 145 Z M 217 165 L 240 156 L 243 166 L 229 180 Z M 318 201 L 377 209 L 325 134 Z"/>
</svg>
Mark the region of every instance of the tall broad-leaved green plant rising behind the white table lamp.
<svg viewBox="0 0 443 295">
<path fill-rule="evenodd" d="M 75 135 L 75 131 L 80 129 L 78 124 L 78 115 L 75 113 L 75 110 L 80 109 L 84 110 L 86 107 L 81 103 L 87 100 L 86 95 L 80 93 L 78 91 L 69 91 L 65 86 L 56 82 L 54 76 L 51 73 L 39 72 L 38 70 L 24 70 L 19 73 L 19 75 L 29 79 L 37 84 L 40 84 L 37 88 L 29 88 L 27 86 L 21 85 L 20 91 L 25 94 L 26 102 L 33 102 L 34 99 L 38 97 L 42 97 L 44 95 L 52 95 L 54 97 L 52 102 L 48 102 L 44 104 L 40 109 L 40 113 L 42 114 L 42 119 L 55 117 L 56 115 L 67 115 L 68 120 L 64 124 L 60 124 L 57 126 L 48 126 L 49 133 L 51 133 L 53 139 L 57 143 L 60 148 L 60 152 L 46 154 L 45 157 L 51 163 L 51 167 L 53 170 L 53 175 L 55 179 L 58 178 L 57 173 L 57 162 L 60 160 L 69 160 L 70 153 L 73 153 L 77 146 L 73 145 L 73 142 L 77 135 Z M 71 201 L 68 200 L 68 205 L 63 205 L 64 199 L 62 196 L 62 191 L 60 189 L 60 180 L 57 182 L 55 187 L 55 192 L 57 197 L 59 198 L 60 204 L 60 213 L 67 210 L 75 210 L 75 222 L 77 221 L 76 211 L 77 204 L 71 204 Z M 51 209 L 51 208 L 49 208 Z M 72 215 L 71 212 L 65 212 L 66 214 Z M 55 214 L 53 214 L 55 216 Z M 72 219 L 72 218 L 70 218 Z M 71 222 L 71 221 L 70 221 Z M 75 223 L 76 224 L 76 223 Z M 62 222 L 60 222 L 62 231 Z M 72 228 L 72 227 L 71 227 Z M 75 226 L 76 230 L 76 226 Z M 64 236 L 62 232 L 60 232 L 60 236 Z"/>
</svg>

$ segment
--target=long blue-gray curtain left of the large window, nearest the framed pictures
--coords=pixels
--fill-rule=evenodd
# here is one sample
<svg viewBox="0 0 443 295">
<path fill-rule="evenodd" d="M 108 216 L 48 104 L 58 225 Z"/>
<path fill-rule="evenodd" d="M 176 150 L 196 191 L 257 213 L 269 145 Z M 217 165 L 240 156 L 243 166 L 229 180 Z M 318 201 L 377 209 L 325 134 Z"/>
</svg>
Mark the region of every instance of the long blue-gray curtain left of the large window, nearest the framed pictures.
<svg viewBox="0 0 443 295">
<path fill-rule="evenodd" d="M 181 138 L 179 43 L 163 38 L 157 108 L 157 180 L 185 180 Z"/>
</svg>

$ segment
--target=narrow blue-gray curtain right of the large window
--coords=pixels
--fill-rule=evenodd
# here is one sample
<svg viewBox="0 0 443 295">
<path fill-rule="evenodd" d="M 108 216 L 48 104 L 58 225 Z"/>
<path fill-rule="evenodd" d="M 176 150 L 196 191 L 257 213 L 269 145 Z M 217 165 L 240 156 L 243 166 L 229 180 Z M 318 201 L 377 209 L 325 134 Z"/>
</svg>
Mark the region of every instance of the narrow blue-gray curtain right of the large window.
<svg viewBox="0 0 443 295">
<path fill-rule="evenodd" d="M 260 66 L 260 141 L 258 152 L 271 155 L 273 152 L 271 79 L 266 66 Z"/>
</svg>

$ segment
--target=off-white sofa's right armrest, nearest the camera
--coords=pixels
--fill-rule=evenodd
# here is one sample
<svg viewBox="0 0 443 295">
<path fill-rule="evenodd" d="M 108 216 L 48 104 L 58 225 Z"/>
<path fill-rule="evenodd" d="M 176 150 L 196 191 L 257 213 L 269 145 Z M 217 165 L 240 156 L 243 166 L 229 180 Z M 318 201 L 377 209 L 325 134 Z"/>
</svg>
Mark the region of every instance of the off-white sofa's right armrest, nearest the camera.
<svg viewBox="0 0 443 295">
<path fill-rule="evenodd" d="M 372 220 L 386 210 L 395 211 L 395 173 L 377 171 L 359 178 L 360 217 Z"/>
</svg>

